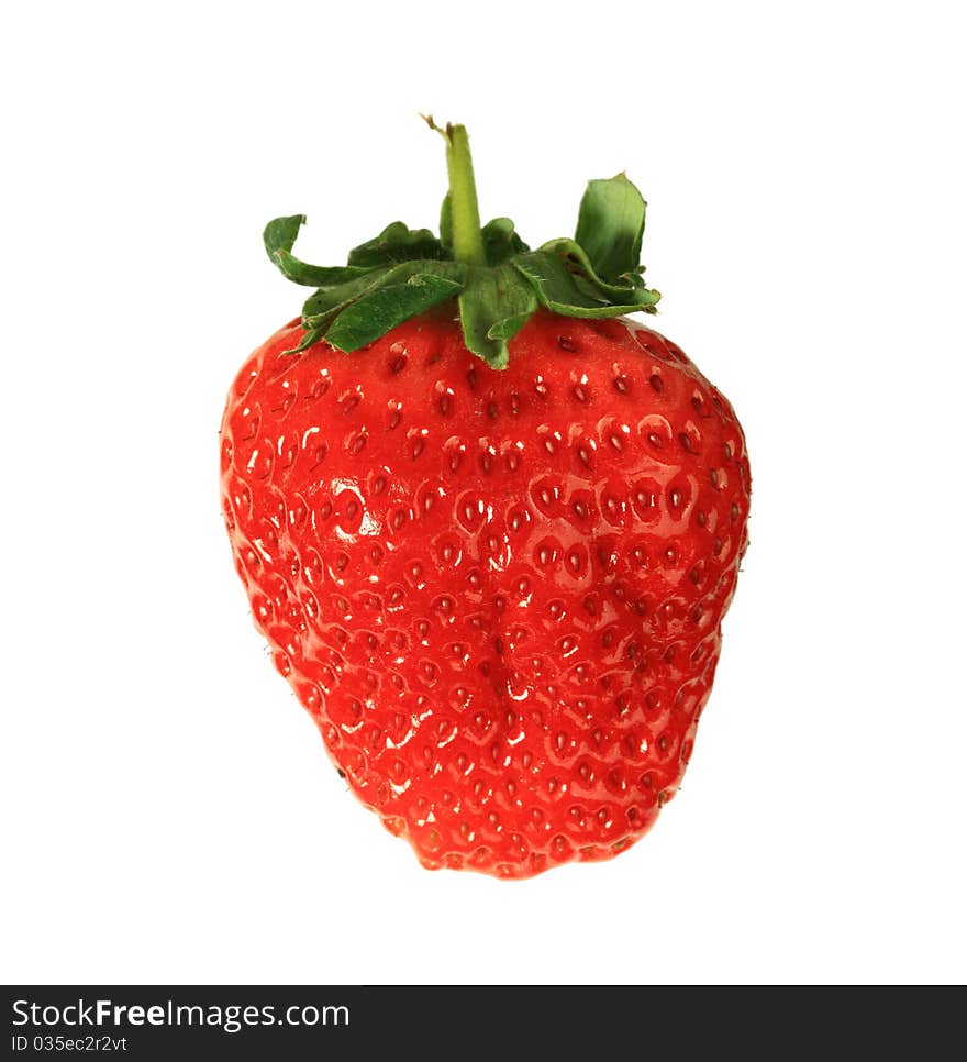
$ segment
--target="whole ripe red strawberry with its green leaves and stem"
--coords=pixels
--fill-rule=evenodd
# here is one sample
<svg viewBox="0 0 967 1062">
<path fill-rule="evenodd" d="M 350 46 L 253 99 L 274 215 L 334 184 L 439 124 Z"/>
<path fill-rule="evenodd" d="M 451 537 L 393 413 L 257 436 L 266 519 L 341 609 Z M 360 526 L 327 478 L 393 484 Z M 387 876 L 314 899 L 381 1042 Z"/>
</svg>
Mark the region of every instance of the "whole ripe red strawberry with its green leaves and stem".
<svg viewBox="0 0 967 1062">
<path fill-rule="evenodd" d="M 436 126 L 434 126 L 436 128 Z M 645 203 L 574 240 L 481 229 L 463 126 L 441 236 L 397 222 L 248 358 L 221 430 L 238 574 L 349 788 L 427 867 L 526 877 L 626 849 L 677 792 L 746 546 L 725 400 L 627 318 Z"/>
</svg>

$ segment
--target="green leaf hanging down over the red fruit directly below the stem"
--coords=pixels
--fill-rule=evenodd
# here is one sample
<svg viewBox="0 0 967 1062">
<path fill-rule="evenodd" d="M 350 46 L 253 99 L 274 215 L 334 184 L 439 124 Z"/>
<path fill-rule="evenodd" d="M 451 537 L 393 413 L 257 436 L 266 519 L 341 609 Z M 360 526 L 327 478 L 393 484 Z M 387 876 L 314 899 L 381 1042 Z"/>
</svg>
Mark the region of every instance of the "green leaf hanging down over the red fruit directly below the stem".
<svg viewBox="0 0 967 1062">
<path fill-rule="evenodd" d="M 459 298 L 467 349 L 491 368 L 507 368 L 508 343 L 537 310 L 537 296 L 510 264 L 470 272 Z"/>
</svg>

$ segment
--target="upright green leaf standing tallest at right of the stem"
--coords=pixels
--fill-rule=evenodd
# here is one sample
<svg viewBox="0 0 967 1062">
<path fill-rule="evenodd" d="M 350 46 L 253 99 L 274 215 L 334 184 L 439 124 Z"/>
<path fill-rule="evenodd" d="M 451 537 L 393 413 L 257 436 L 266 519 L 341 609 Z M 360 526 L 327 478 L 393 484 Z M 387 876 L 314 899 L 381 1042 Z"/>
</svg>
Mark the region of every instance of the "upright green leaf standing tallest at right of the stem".
<svg viewBox="0 0 967 1062">
<path fill-rule="evenodd" d="M 610 180 L 588 181 L 575 240 L 587 252 L 599 277 L 613 284 L 635 273 L 644 231 L 645 200 L 624 174 Z"/>
</svg>

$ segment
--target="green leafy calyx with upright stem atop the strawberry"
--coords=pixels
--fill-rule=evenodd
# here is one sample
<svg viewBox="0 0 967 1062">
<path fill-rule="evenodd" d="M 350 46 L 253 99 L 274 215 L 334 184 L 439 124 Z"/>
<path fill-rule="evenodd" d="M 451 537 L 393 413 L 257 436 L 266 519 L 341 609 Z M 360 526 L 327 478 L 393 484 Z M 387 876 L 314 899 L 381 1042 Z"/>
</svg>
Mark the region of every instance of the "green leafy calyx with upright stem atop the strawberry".
<svg viewBox="0 0 967 1062">
<path fill-rule="evenodd" d="M 580 318 L 655 312 L 660 296 L 645 287 L 638 264 L 645 201 L 624 174 L 588 184 L 573 240 L 531 251 L 509 218 L 481 228 L 464 126 L 426 122 L 446 141 L 449 190 L 440 236 L 394 221 L 354 247 L 346 265 L 313 266 L 292 254 L 303 214 L 266 225 L 265 250 L 282 275 L 316 288 L 302 307 L 305 335 L 296 351 L 325 340 L 352 353 L 456 299 L 467 349 L 501 369 L 508 343 L 542 306 Z"/>
</svg>

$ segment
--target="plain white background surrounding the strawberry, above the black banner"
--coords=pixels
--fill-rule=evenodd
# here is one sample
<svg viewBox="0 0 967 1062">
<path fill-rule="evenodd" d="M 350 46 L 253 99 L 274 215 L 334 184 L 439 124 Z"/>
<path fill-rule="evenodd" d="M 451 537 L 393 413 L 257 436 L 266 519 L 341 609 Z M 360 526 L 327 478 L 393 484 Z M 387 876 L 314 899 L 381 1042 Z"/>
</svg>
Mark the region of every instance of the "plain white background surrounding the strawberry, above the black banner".
<svg viewBox="0 0 967 1062">
<path fill-rule="evenodd" d="M 9 5 L 8 983 L 963 982 L 956 3 Z M 276 674 L 219 511 L 243 358 L 336 263 L 649 202 L 655 327 L 734 402 L 752 546 L 678 798 L 616 860 L 430 873 Z"/>
</svg>

